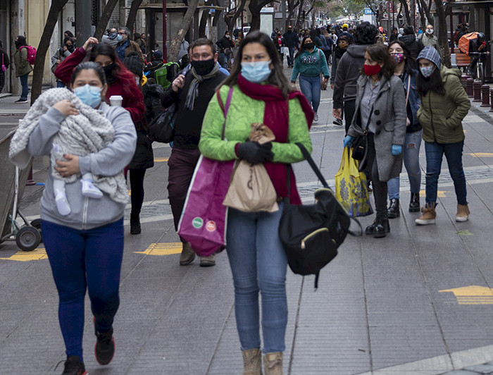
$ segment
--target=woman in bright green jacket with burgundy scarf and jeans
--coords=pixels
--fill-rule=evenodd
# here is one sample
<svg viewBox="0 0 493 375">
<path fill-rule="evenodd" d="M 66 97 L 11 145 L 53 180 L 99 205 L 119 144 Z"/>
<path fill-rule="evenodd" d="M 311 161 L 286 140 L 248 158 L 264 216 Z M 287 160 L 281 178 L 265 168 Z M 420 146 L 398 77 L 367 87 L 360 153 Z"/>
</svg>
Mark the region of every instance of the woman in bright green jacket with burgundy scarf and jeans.
<svg viewBox="0 0 493 375">
<path fill-rule="evenodd" d="M 204 117 L 199 149 L 210 159 L 263 163 L 277 192 L 278 211 L 245 213 L 229 209 L 226 250 L 235 285 L 243 374 L 261 374 L 258 293 L 262 295 L 265 375 L 283 374 L 287 257 L 277 231 L 282 198 L 288 196 L 286 166 L 304 159 L 295 143 L 301 143 L 311 152 L 308 128 L 313 112 L 301 92 L 294 90 L 282 74 L 279 54 L 263 32 L 249 32 L 239 46 L 231 75 L 219 90 L 226 107 L 230 90 L 224 140 L 221 140 L 224 113 L 214 95 Z M 259 145 L 248 141 L 252 123 L 263 123 L 273 130 L 275 142 Z M 300 204 L 292 169 L 290 181 L 290 202 Z"/>
</svg>

